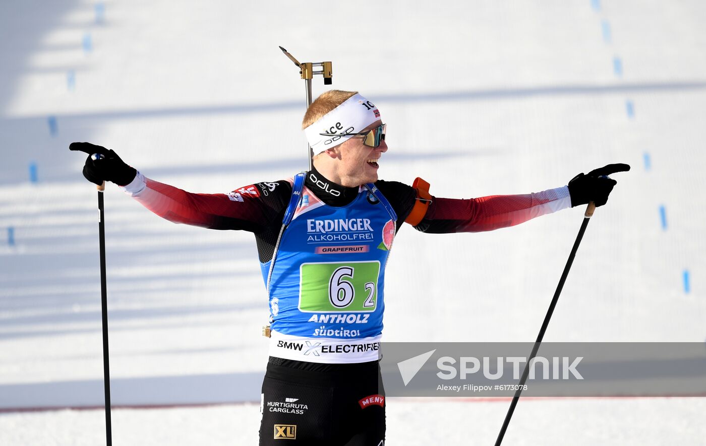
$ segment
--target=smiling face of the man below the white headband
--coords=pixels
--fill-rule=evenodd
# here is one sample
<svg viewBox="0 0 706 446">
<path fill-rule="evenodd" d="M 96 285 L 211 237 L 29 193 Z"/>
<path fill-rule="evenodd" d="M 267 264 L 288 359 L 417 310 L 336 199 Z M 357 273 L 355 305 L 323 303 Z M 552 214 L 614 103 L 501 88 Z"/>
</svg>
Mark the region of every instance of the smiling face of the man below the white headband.
<svg viewBox="0 0 706 446">
<path fill-rule="evenodd" d="M 382 123 L 383 121 L 378 119 L 359 133 L 370 131 Z M 378 147 L 370 147 L 365 145 L 363 140 L 364 136 L 354 136 L 337 147 L 337 173 L 342 180 L 342 186 L 361 186 L 378 181 L 378 159 L 388 151 L 388 145 L 382 140 Z"/>
</svg>

